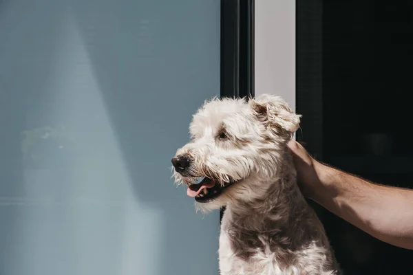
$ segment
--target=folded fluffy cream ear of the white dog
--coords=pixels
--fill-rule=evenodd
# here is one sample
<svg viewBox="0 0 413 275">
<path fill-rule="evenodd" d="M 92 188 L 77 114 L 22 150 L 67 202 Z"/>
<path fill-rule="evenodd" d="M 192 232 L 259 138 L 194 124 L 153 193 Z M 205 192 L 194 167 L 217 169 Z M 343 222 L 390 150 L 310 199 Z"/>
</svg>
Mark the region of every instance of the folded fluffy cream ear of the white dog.
<svg viewBox="0 0 413 275">
<path fill-rule="evenodd" d="M 279 96 L 263 94 L 249 103 L 258 120 L 266 126 L 294 133 L 299 128 L 301 115 L 294 113 Z"/>
</svg>

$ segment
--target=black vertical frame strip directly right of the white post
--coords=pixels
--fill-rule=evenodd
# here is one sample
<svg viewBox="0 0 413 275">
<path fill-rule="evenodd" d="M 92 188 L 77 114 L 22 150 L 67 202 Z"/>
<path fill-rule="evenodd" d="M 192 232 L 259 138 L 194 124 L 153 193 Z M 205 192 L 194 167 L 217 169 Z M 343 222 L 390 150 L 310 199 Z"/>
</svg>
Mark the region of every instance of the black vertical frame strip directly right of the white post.
<svg viewBox="0 0 413 275">
<path fill-rule="evenodd" d="M 323 157 L 323 1 L 295 1 L 296 110 L 301 113 L 297 141 L 317 159 Z"/>
</svg>

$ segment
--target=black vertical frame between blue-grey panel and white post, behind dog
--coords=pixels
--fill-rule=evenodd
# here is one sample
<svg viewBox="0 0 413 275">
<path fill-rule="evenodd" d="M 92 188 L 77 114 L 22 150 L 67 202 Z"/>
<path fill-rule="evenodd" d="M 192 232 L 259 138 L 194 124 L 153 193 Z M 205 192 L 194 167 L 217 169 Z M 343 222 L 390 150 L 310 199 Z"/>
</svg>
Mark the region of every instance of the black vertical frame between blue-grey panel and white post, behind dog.
<svg viewBox="0 0 413 275">
<path fill-rule="evenodd" d="M 255 0 L 221 0 L 221 98 L 255 96 L 254 22 Z"/>
</svg>

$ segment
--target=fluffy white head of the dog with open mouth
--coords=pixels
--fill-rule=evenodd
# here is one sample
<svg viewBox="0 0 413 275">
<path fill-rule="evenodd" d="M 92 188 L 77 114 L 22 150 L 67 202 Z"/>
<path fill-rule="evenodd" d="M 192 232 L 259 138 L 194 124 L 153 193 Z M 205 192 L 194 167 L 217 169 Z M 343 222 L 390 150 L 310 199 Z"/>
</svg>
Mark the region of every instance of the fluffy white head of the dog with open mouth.
<svg viewBox="0 0 413 275">
<path fill-rule="evenodd" d="M 201 210 L 259 197 L 277 175 L 299 118 L 278 96 L 205 102 L 189 126 L 191 142 L 172 159 L 176 182 L 189 186 Z"/>
</svg>

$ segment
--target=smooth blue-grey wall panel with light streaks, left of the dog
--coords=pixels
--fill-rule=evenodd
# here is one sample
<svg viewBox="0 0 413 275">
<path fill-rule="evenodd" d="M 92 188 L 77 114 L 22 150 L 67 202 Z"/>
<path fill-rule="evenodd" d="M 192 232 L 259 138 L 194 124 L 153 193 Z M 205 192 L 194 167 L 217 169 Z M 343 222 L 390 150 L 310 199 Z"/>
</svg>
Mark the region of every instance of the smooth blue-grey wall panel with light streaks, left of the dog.
<svg viewBox="0 0 413 275">
<path fill-rule="evenodd" d="M 218 274 L 219 213 L 169 166 L 219 93 L 219 6 L 0 1 L 0 274 Z"/>
</svg>

